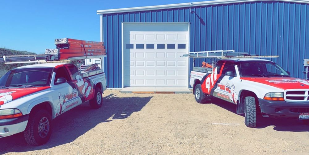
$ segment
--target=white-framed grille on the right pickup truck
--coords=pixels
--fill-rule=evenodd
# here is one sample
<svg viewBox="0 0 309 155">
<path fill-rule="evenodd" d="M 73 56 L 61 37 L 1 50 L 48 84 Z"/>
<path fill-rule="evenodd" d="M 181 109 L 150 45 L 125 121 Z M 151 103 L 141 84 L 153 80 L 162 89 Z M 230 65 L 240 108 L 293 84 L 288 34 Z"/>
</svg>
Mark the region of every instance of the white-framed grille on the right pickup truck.
<svg viewBox="0 0 309 155">
<path fill-rule="evenodd" d="M 284 92 L 287 102 L 307 102 L 309 101 L 309 90 L 307 89 L 291 89 Z"/>
</svg>

